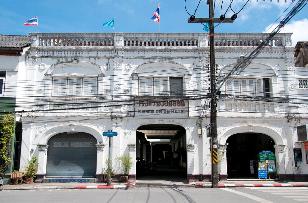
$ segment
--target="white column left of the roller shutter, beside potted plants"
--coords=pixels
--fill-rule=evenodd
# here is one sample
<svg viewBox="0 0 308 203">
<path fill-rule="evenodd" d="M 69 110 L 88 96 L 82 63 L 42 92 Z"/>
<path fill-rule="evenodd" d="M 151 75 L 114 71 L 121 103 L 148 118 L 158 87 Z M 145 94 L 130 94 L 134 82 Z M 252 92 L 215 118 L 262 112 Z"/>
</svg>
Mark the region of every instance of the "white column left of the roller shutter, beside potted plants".
<svg viewBox="0 0 308 203">
<path fill-rule="evenodd" d="M 43 179 L 46 177 L 48 146 L 48 144 L 38 144 L 38 171 L 35 183 L 42 183 Z"/>
</svg>

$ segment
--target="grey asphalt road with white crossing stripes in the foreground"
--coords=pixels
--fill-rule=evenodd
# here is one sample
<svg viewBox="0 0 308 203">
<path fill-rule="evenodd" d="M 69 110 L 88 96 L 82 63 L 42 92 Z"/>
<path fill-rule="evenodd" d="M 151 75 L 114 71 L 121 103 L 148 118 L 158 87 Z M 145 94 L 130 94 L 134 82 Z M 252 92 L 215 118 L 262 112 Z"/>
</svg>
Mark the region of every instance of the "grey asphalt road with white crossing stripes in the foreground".
<svg viewBox="0 0 308 203">
<path fill-rule="evenodd" d="M 0 202 L 308 202 L 308 188 L 125 188 L 0 191 Z"/>
</svg>

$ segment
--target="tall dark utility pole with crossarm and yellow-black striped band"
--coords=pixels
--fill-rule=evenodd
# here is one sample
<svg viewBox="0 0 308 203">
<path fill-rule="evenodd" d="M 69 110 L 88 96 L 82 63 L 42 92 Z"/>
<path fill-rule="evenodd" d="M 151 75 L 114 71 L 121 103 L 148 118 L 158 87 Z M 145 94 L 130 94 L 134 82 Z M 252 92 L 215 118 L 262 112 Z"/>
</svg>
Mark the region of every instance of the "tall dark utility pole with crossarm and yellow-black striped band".
<svg viewBox="0 0 308 203">
<path fill-rule="evenodd" d="M 218 188 L 218 165 L 217 165 L 217 101 L 216 101 L 216 77 L 215 77 L 215 48 L 214 48 L 214 23 L 232 23 L 236 17 L 225 18 L 224 15 L 220 18 L 214 18 L 213 0 L 207 0 L 209 5 L 209 18 L 195 18 L 190 16 L 188 23 L 209 23 L 210 24 L 210 73 L 211 73 L 211 150 L 212 150 L 212 188 Z"/>
</svg>

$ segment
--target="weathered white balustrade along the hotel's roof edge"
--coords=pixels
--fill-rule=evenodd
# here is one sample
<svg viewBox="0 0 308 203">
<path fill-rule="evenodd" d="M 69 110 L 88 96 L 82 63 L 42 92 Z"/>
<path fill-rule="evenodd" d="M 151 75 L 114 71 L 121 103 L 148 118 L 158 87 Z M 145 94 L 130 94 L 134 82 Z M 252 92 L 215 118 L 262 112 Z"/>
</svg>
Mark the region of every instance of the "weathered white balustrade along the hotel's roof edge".
<svg viewBox="0 0 308 203">
<path fill-rule="evenodd" d="M 30 33 L 31 46 L 209 46 L 207 33 Z M 259 46 L 268 33 L 215 33 L 215 46 Z M 267 46 L 291 45 L 291 33 Z"/>
</svg>

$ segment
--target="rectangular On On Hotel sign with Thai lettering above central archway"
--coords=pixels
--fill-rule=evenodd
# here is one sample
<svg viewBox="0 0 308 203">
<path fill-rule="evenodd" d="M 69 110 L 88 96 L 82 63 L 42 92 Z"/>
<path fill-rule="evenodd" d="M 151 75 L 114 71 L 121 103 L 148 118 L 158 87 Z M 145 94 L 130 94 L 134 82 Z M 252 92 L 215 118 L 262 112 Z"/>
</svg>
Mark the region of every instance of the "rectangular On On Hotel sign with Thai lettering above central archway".
<svg viewBox="0 0 308 203">
<path fill-rule="evenodd" d="M 189 102 L 186 100 L 135 99 L 134 116 L 189 116 Z"/>
</svg>

